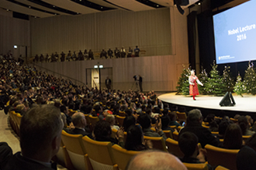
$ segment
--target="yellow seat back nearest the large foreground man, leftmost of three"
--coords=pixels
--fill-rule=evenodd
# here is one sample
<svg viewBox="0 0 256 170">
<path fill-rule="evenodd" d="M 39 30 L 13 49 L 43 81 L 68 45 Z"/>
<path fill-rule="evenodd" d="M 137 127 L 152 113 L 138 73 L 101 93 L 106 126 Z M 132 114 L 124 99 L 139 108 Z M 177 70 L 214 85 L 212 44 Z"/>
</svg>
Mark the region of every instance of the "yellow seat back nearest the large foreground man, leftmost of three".
<svg viewBox="0 0 256 170">
<path fill-rule="evenodd" d="M 62 131 L 61 139 L 67 149 L 65 153 L 67 168 L 88 169 L 88 165 L 85 164 L 86 151 L 81 138 L 81 134 L 67 134 L 67 132 Z"/>
</svg>

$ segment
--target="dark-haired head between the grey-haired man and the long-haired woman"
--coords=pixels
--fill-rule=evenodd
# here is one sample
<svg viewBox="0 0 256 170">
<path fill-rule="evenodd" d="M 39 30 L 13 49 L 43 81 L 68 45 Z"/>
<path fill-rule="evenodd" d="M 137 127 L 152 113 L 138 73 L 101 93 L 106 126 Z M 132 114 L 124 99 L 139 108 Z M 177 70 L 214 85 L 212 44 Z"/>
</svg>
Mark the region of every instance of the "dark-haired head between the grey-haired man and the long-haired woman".
<svg viewBox="0 0 256 170">
<path fill-rule="evenodd" d="M 109 122 L 97 121 L 93 133 L 95 134 L 96 141 L 102 141 L 104 138 L 109 138 L 112 134 Z"/>
</svg>

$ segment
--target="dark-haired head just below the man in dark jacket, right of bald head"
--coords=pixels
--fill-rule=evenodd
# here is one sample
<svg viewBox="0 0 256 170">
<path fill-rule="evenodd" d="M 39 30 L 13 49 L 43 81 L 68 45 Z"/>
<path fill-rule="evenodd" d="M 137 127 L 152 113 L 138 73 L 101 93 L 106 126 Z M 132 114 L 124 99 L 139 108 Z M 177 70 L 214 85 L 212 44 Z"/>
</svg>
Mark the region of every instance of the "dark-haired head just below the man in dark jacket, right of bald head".
<svg viewBox="0 0 256 170">
<path fill-rule="evenodd" d="M 199 139 L 192 132 L 186 131 L 178 137 L 178 146 L 185 157 L 191 157 L 198 151 Z"/>
</svg>

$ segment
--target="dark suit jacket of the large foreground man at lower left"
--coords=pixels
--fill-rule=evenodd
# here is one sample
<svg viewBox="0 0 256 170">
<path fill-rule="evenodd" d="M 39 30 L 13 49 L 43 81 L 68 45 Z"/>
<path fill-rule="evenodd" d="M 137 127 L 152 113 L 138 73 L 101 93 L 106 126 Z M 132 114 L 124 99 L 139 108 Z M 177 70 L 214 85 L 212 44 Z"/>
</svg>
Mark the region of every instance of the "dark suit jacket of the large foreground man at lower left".
<svg viewBox="0 0 256 170">
<path fill-rule="evenodd" d="M 5 166 L 4 170 L 52 170 L 57 169 L 55 166 L 54 168 L 48 168 L 47 166 L 40 164 L 39 162 L 34 162 L 28 158 L 25 158 L 21 155 L 21 152 L 17 152 L 12 158 L 9 160 L 8 164 Z"/>
</svg>

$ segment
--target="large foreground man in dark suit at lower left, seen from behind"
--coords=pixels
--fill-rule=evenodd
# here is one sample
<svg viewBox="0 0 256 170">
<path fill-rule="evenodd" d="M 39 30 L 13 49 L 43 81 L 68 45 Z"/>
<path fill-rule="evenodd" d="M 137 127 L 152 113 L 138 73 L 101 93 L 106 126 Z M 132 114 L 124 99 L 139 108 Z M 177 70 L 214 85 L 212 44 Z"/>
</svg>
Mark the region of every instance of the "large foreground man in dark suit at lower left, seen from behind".
<svg viewBox="0 0 256 170">
<path fill-rule="evenodd" d="M 51 105 L 38 105 L 30 109 L 21 120 L 20 148 L 5 166 L 11 169 L 57 169 L 51 158 L 61 144 L 63 122 L 61 112 Z"/>
</svg>

